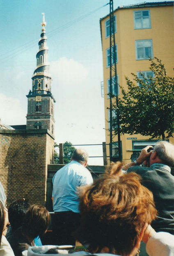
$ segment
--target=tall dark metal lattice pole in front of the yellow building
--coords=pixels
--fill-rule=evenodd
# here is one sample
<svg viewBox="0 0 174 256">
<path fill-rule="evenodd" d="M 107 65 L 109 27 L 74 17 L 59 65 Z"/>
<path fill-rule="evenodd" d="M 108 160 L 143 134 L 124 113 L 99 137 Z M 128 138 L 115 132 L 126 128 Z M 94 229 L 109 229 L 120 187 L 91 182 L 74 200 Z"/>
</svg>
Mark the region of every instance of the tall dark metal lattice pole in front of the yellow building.
<svg viewBox="0 0 174 256">
<path fill-rule="evenodd" d="M 116 21 L 115 21 L 116 23 Z M 112 91 L 115 86 L 116 95 Z M 113 0 L 110 0 L 110 161 L 112 161 L 112 98 L 116 96 L 117 106 L 117 136 L 118 136 L 118 151 L 119 161 L 121 161 L 121 141 L 120 141 L 120 123 L 119 123 L 119 109 L 118 109 L 118 84 L 117 84 L 117 67 L 116 67 L 116 53 L 115 53 L 115 28 L 114 28 L 114 9 Z"/>
</svg>

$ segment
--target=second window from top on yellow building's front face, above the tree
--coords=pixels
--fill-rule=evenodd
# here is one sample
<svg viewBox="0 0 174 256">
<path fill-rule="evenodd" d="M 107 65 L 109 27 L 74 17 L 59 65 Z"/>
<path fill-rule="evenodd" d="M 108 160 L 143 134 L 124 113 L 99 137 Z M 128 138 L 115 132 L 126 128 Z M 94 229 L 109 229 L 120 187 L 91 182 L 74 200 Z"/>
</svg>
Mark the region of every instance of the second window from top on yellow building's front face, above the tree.
<svg viewBox="0 0 174 256">
<path fill-rule="evenodd" d="M 152 40 L 135 40 L 136 60 L 153 58 Z"/>
</svg>

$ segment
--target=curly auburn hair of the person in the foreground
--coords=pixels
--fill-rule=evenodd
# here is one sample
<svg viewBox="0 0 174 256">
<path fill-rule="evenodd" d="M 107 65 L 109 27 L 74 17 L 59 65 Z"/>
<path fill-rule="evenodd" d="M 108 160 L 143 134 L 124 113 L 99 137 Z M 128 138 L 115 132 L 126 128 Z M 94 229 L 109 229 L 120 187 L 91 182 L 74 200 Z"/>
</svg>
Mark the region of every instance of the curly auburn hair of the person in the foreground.
<svg viewBox="0 0 174 256">
<path fill-rule="evenodd" d="M 123 174 L 117 162 L 92 185 L 80 191 L 81 225 L 75 237 L 89 251 L 127 255 L 135 247 L 145 223 L 155 219 L 152 193 L 134 172 Z"/>
</svg>

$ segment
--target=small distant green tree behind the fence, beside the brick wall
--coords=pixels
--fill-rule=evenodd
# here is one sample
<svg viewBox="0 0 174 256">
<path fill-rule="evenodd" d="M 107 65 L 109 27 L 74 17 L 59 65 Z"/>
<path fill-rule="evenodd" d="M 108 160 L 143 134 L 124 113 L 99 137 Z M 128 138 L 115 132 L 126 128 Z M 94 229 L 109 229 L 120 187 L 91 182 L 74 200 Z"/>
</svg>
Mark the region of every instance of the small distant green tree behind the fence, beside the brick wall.
<svg viewBox="0 0 174 256">
<path fill-rule="evenodd" d="M 69 163 L 71 162 L 71 156 L 73 154 L 73 151 L 75 149 L 75 147 L 71 146 L 72 143 L 71 142 L 64 142 L 63 144 L 63 148 L 64 148 L 64 163 Z M 58 147 L 57 143 L 55 142 L 55 146 Z M 56 148 L 56 147 L 55 147 Z M 54 151 L 54 162 L 55 163 L 60 163 L 59 161 L 59 153 L 57 153 L 56 149 Z"/>
</svg>

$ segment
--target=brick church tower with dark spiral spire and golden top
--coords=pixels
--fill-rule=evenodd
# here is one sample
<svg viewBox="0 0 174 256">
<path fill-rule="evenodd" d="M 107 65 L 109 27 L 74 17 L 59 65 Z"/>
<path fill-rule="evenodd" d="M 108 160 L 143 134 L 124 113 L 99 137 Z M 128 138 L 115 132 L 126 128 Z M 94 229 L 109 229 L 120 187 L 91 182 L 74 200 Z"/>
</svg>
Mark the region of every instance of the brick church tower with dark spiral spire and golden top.
<svg viewBox="0 0 174 256">
<path fill-rule="evenodd" d="M 41 23 L 41 38 L 37 52 L 37 66 L 32 76 L 32 90 L 27 95 L 27 125 L 26 129 L 48 129 L 54 135 L 54 103 L 51 94 L 52 78 L 49 74 L 47 37 L 45 35 L 45 16 Z"/>
</svg>

